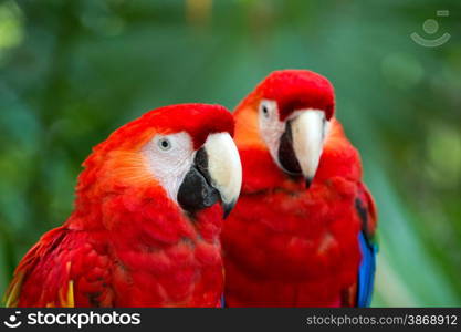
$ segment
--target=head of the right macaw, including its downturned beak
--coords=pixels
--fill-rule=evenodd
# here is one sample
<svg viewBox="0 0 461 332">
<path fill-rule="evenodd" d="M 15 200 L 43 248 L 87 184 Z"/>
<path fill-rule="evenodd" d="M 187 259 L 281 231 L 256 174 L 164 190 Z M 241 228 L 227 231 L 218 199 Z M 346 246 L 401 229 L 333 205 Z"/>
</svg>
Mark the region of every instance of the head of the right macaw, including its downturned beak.
<svg viewBox="0 0 461 332">
<path fill-rule="evenodd" d="M 332 84 L 306 70 L 275 71 L 235 111 L 239 147 L 266 148 L 286 174 L 303 176 L 308 188 L 318 167 L 334 115 Z"/>
</svg>

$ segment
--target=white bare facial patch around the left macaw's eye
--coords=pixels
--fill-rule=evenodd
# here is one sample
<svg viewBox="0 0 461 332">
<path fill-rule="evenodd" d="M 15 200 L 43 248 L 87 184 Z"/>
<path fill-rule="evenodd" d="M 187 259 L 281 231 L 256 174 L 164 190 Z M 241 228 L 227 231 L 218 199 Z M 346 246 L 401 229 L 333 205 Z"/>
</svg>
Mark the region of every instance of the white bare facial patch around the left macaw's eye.
<svg viewBox="0 0 461 332">
<path fill-rule="evenodd" d="M 193 164 L 193 143 L 189 134 L 156 135 L 142 153 L 153 176 L 177 203 L 179 187 Z"/>
</svg>

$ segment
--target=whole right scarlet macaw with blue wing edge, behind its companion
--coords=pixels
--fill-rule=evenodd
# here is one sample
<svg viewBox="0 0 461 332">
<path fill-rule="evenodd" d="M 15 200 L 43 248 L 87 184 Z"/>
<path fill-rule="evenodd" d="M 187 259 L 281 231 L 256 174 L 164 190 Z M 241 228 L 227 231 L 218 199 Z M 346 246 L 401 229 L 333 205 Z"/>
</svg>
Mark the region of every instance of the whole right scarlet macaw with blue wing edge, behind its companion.
<svg viewBox="0 0 461 332">
<path fill-rule="evenodd" d="M 375 204 L 327 79 L 276 71 L 234 111 L 242 193 L 222 246 L 229 307 L 368 305 Z"/>
</svg>

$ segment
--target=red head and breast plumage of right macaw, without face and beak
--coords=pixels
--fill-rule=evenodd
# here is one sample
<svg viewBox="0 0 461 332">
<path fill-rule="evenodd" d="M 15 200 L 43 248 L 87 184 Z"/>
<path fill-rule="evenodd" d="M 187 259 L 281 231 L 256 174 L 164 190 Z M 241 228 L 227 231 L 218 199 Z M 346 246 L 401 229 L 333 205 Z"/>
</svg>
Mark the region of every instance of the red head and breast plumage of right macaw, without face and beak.
<svg viewBox="0 0 461 332">
<path fill-rule="evenodd" d="M 357 151 L 332 117 L 311 188 L 284 174 L 259 134 L 258 105 L 275 100 L 334 112 L 329 82 L 307 71 L 271 74 L 235 111 L 243 166 L 240 199 L 224 222 L 226 301 L 230 307 L 336 307 L 355 286 L 360 261 L 362 185 Z"/>
</svg>

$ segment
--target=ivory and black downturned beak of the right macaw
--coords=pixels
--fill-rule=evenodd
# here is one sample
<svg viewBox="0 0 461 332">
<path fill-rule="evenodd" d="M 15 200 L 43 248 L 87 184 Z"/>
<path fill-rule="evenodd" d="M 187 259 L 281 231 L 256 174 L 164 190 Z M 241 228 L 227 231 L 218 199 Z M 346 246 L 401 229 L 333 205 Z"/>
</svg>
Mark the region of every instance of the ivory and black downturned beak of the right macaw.
<svg viewBox="0 0 461 332">
<path fill-rule="evenodd" d="M 310 188 L 318 168 L 326 131 L 323 111 L 302 110 L 286 123 L 281 137 L 279 160 L 287 173 L 302 174 Z"/>
</svg>

